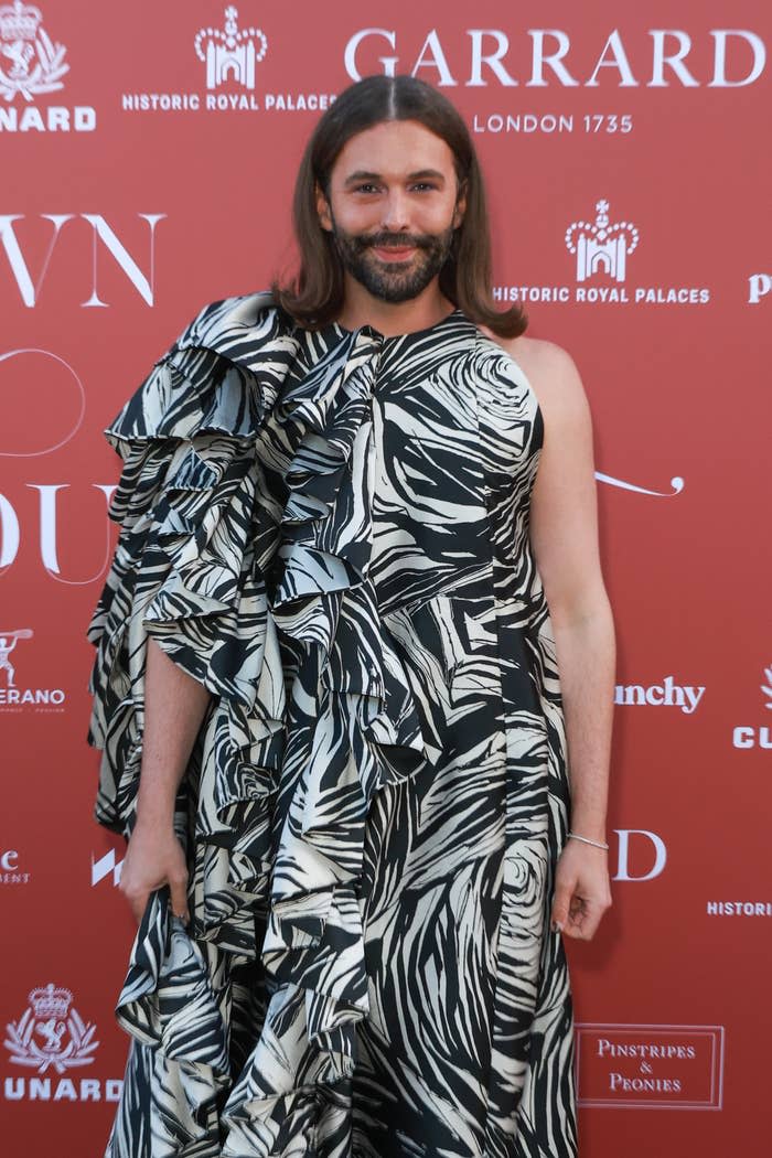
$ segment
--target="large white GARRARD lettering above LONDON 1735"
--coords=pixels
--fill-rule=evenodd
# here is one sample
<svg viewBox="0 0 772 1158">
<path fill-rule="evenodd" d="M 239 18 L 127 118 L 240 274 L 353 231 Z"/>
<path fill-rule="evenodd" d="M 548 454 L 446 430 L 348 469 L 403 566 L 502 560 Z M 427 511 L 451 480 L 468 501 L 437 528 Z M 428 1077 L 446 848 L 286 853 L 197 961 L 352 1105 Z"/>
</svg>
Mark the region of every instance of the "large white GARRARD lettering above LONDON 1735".
<svg viewBox="0 0 772 1158">
<path fill-rule="evenodd" d="M 480 88 L 742 88 L 755 85 L 766 66 L 766 45 L 750 29 L 712 28 L 699 36 L 697 53 L 701 67 L 686 60 L 693 37 L 684 29 L 653 28 L 647 38 L 625 41 L 619 29 L 597 41 L 589 69 L 580 71 L 572 59 L 571 34 L 559 28 L 522 30 L 523 44 L 515 47 L 519 59 L 530 58 L 530 67 L 515 75 L 509 56 L 509 31 L 502 28 L 466 28 L 465 39 L 454 29 L 453 52 L 436 28 L 431 29 L 419 49 L 400 54 L 397 34 L 388 28 L 360 28 L 344 47 L 344 67 L 352 80 L 370 73 L 395 76 L 410 72 L 439 87 Z M 525 41 L 525 35 L 529 42 Z M 404 44 L 404 42 L 402 42 Z M 584 49 L 584 44 L 582 44 Z M 582 52 L 582 56 L 584 53 Z"/>
</svg>

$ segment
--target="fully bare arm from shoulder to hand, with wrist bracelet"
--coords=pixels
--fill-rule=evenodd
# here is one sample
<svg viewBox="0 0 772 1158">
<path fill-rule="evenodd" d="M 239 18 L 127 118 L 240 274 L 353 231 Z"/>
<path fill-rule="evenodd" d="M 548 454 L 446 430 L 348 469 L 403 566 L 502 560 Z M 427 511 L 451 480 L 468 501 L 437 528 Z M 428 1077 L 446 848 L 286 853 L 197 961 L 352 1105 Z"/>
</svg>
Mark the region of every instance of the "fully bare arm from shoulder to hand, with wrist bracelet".
<svg viewBox="0 0 772 1158">
<path fill-rule="evenodd" d="M 531 496 L 531 544 L 544 582 L 560 674 L 571 780 L 571 829 L 605 841 L 615 633 L 597 541 L 589 406 L 559 346 L 538 342 L 523 365 L 544 417 Z M 553 919 L 589 939 L 611 903 L 608 853 L 568 841 L 558 864 Z"/>
</svg>

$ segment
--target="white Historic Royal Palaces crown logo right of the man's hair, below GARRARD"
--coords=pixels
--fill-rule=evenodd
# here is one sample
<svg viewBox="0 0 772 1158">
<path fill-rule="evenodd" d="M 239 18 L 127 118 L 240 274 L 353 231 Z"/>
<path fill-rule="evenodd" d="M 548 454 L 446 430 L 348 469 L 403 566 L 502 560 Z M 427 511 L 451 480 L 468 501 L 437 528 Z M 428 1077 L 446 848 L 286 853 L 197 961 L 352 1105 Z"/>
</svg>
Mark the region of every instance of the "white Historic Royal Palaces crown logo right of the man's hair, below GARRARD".
<svg viewBox="0 0 772 1158">
<path fill-rule="evenodd" d="M 565 247 L 575 257 L 575 284 L 494 286 L 497 301 L 610 306 L 705 306 L 707 286 L 627 285 L 627 258 L 637 250 L 640 230 L 631 221 L 612 222 L 610 203 L 595 203 L 595 221 L 571 221 Z"/>
</svg>

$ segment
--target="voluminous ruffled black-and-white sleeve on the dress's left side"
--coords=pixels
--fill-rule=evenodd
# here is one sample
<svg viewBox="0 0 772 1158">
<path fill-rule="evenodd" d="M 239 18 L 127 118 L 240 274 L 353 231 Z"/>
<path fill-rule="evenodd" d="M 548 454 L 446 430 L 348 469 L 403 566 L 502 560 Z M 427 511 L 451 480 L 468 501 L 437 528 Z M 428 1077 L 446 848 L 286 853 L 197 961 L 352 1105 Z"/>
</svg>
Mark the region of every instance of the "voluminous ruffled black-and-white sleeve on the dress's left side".
<svg viewBox="0 0 772 1158">
<path fill-rule="evenodd" d="M 250 365 L 213 340 L 223 334 L 223 317 L 233 331 L 240 312 L 253 318 L 259 356 Z M 264 501 L 266 526 L 255 525 L 264 482 L 255 448 L 294 350 L 264 295 L 206 306 L 105 431 L 123 459 L 109 511 L 122 529 L 88 629 L 96 647 L 88 739 L 103 749 L 96 819 L 126 836 L 134 822 L 149 637 L 213 696 L 241 705 L 233 731 L 241 720 L 241 732 L 249 732 L 257 695 L 264 718 L 281 719 L 280 662 L 264 665 L 275 639 L 269 638 L 258 562 L 260 533 L 270 534 L 274 520 Z M 269 723 L 259 738 L 264 747 L 277 730 Z M 270 752 L 263 756 L 270 765 Z"/>
</svg>

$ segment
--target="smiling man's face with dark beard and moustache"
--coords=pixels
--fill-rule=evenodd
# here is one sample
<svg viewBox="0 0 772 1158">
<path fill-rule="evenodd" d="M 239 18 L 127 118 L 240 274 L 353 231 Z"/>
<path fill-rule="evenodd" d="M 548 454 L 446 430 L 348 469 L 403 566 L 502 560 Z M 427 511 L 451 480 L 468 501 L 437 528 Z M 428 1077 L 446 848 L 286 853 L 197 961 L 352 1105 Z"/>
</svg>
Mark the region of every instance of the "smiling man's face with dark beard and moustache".
<svg viewBox="0 0 772 1158">
<path fill-rule="evenodd" d="M 356 133 L 317 190 L 322 228 L 344 269 L 373 296 L 418 296 L 442 269 L 464 201 L 448 145 L 416 120 L 385 120 Z"/>
</svg>

